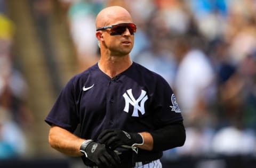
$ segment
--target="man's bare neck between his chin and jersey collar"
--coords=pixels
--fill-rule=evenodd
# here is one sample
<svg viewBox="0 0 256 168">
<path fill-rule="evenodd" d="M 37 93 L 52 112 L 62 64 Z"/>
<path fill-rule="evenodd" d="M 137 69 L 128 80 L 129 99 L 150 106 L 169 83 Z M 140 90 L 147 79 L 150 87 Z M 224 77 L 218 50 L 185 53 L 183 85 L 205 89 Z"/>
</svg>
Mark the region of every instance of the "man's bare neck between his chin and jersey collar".
<svg viewBox="0 0 256 168">
<path fill-rule="evenodd" d="M 119 73 L 127 70 L 132 64 L 130 56 L 109 56 L 101 57 L 98 63 L 99 69 L 106 73 L 110 78 L 115 77 Z"/>
</svg>

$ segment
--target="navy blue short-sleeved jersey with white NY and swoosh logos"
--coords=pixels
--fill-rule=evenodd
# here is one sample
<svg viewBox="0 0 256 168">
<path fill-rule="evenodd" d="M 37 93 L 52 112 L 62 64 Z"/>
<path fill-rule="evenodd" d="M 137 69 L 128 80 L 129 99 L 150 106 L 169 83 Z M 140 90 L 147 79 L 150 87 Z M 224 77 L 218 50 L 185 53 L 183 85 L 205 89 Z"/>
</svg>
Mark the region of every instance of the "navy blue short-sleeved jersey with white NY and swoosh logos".
<svg viewBox="0 0 256 168">
<path fill-rule="evenodd" d="M 70 132 L 81 124 L 81 137 L 94 140 L 109 128 L 150 132 L 182 120 L 169 84 L 134 62 L 112 79 L 98 64 L 76 75 L 45 119 Z"/>
</svg>

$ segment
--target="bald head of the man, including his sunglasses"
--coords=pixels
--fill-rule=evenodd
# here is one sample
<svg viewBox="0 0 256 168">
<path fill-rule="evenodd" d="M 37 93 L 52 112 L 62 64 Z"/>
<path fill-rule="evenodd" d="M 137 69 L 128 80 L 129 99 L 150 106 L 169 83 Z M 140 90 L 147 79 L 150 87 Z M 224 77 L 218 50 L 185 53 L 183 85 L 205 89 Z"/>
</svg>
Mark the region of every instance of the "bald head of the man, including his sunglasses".
<svg viewBox="0 0 256 168">
<path fill-rule="evenodd" d="M 126 9 L 121 6 L 106 7 L 97 15 L 95 24 L 101 49 L 106 49 L 110 55 L 115 56 L 128 55 L 131 52 L 136 26 Z"/>
</svg>

